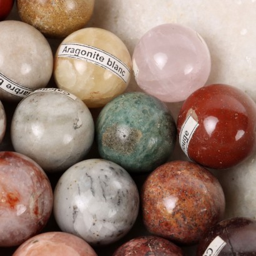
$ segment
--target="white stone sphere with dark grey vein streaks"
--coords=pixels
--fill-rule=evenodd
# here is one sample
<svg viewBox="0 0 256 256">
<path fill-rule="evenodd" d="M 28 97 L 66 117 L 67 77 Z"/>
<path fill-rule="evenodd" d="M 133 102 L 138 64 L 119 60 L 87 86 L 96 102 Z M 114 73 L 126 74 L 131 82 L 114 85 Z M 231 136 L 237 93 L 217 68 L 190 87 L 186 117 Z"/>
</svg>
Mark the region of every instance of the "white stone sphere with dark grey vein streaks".
<svg viewBox="0 0 256 256">
<path fill-rule="evenodd" d="M 121 166 L 89 159 L 69 168 L 54 191 L 54 216 L 64 232 L 92 245 L 111 244 L 134 225 L 139 192 Z"/>
</svg>

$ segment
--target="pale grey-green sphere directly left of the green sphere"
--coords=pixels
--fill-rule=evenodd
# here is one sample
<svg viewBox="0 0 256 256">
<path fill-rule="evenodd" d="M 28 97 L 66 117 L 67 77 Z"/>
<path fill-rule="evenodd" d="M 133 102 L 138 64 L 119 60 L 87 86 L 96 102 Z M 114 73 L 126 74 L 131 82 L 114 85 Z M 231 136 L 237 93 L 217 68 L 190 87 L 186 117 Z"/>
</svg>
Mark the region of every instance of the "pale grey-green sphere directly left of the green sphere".
<svg viewBox="0 0 256 256">
<path fill-rule="evenodd" d="M 39 89 L 14 111 L 11 140 L 48 172 L 63 171 L 84 159 L 94 140 L 94 121 L 76 96 L 55 88 Z"/>
</svg>

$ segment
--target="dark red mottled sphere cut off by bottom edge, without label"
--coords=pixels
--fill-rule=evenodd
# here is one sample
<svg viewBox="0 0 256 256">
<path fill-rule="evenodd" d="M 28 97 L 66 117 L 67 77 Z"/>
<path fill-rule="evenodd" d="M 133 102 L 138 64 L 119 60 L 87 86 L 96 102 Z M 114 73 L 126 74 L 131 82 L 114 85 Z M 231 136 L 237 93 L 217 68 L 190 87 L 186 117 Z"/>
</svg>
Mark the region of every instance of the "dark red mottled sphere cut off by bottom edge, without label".
<svg viewBox="0 0 256 256">
<path fill-rule="evenodd" d="M 182 249 L 169 240 L 152 235 L 137 237 L 121 245 L 113 256 L 183 256 Z"/>
</svg>

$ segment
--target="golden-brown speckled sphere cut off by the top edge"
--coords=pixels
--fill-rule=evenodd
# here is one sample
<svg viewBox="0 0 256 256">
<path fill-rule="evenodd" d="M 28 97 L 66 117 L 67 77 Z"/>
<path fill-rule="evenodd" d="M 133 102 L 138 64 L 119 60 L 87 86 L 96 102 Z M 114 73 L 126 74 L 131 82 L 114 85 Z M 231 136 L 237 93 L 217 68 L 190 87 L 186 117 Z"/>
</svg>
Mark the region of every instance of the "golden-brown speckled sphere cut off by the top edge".
<svg viewBox="0 0 256 256">
<path fill-rule="evenodd" d="M 23 22 L 47 37 L 66 37 L 91 19 L 94 0 L 17 0 Z"/>
</svg>

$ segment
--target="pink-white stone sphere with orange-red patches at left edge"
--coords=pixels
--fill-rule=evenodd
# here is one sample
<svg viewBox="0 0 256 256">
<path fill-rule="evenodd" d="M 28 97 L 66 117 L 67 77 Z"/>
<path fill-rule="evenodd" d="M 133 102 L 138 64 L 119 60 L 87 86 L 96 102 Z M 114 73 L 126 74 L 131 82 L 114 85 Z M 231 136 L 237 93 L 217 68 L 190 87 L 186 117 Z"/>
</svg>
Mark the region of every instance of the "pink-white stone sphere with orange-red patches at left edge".
<svg viewBox="0 0 256 256">
<path fill-rule="evenodd" d="M 51 211 L 52 188 L 42 168 L 25 155 L 0 152 L 0 247 L 37 234 Z"/>
</svg>

